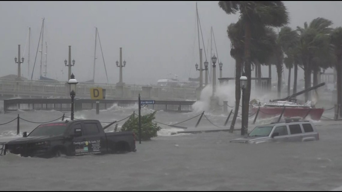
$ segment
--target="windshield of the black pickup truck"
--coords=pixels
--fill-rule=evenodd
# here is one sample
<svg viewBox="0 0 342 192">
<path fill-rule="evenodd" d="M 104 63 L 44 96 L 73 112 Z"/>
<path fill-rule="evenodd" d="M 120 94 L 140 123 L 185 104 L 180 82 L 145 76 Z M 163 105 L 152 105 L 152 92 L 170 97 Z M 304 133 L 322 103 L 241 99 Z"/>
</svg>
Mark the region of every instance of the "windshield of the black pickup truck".
<svg viewBox="0 0 342 192">
<path fill-rule="evenodd" d="M 56 136 L 62 135 L 66 129 L 64 123 L 50 123 L 39 125 L 35 130 L 33 130 L 28 136 Z"/>
</svg>

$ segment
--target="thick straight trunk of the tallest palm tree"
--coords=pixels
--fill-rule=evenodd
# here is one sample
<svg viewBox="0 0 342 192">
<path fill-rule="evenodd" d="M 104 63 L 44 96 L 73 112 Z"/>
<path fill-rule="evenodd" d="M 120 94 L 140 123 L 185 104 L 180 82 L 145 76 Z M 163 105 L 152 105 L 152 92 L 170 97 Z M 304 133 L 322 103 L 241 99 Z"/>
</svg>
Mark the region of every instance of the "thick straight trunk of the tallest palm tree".
<svg viewBox="0 0 342 192">
<path fill-rule="evenodd" d="M 246 19 L 245 21 L 245 75 L 247 77 L 247 87 L 245 88 L 245 93 L 244 93 L 244 126 L 241 127 L 244 129 L 244 131 L 241 131 L 243 135 L 246 135 L 248 133 L 248 114 L 249 114 L 249 99 L 251 96 L 251 50 L 250 50 L 250 45 L 251 45 L 251 36 L 252 36 L 252 31 L 251 31 L 251 22 L 250 20 Z"/>
</svg>

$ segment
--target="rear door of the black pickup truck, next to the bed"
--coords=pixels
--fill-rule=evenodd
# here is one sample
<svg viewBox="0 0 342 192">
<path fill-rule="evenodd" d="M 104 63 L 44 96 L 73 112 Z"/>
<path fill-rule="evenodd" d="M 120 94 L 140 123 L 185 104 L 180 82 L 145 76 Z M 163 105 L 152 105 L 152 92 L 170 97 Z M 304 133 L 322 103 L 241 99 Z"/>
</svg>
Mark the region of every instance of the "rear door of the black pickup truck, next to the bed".
<svg viewBox="0 0 342 192">
<path fill-rule="evenodd" d="M 107 152 L 105 133 L 99 130 L 97 122 L 83 122 L 82 127 L 88 139 L 89 153 Z"/>
</svg>

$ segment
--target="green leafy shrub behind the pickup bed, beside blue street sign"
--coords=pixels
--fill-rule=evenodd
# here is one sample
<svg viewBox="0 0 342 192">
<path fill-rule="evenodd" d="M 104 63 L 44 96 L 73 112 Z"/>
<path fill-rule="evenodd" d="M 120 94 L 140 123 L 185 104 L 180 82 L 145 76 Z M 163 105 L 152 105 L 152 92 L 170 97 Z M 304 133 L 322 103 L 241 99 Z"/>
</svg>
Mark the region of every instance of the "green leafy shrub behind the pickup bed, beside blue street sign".
<svg viewBox="0 0 342 192">
<path fill-rule="evenodd" d="M 155 119 L 156 112 L 157 111 L 141 115 L 141 140 L 151 140 L 151 138 L 158 136 L 157 132 L 161 127 L 152 121 Z M 122 125 L 120 131 L 132 131 L 136 135 L 136 139 L 139 139 L 139 116 L 130 116 L 130 118 Z"/>
</svg>

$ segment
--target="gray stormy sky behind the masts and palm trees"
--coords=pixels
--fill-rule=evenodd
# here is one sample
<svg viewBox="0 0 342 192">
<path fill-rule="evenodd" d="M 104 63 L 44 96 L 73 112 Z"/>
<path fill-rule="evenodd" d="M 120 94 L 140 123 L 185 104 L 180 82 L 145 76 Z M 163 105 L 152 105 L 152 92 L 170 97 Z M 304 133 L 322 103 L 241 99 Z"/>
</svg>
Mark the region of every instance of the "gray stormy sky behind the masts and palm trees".
<svg viewBox="0 0 342 192">
<path fill-rule="evenodd" d="M 303 26 L 305 21 L 310 22 L 316 17 L 332 20 L 334 27 L 342 26 L 340 1 L 285 1 L 285 4 L 290 12 L 289 26 L 292 28 Z M 219 59 L 223 63 L 223 76 L 233 77 L 235 61 L 229 54 L 230 41 L 226 29 L 238 20 L 238 15 L 225 14 L 218 1 L 198 1 L 198 11 L 206 51 L 212 26 Z M 76 79 L 92 79 L 95 26 L 100 35 L 110 83 L 119 80 L 119 68 L 115 64 L 119 60 L 119 47 L 122 47 L 123 60 L 127 61 L 123 68 L 123 81 L 127 84 L 156 83 L 160 78 L 167 78 L 169 73 L 172 77 L 177 74 L 182 80 L 199 75 L 195 70 L 195 64 L 199 63 L 196 1 L 1 1 L 0 76 L 17 74 L 14 57 L 18 55 L 18 44 L 21 44 L 21 55 L 26 44 L 22 74 L 28 78 L 26 40 L 28 27 L 31 27 L 30 79 L 43 17 L 44 53 L 45 41 L 48 44 L 47 77 L 67 80 L 68 68 L 64 59 L 68 58 L 68 45 L 71 45 L 71 59 L 76 60 L 72 71 Z M 39 43 L 39 50 L 40 46 Z M 95 81 L 105 83 L 98 40 L 96 56 Z M 209 59 L 210 56 L 207 57 Z M 39 66 L 38 52 L 33 79 L 39 78 Z M 267 74 L 265 67 L 263 76 Z M 216 76 L 219 76 L 219 70 Z M 287 79 L 287 70 L 285 76 Z M 303 76 L 302 70 L 299 76 Z M 275 68 L 272 77 L 275 80 Z"/>
</svg>

